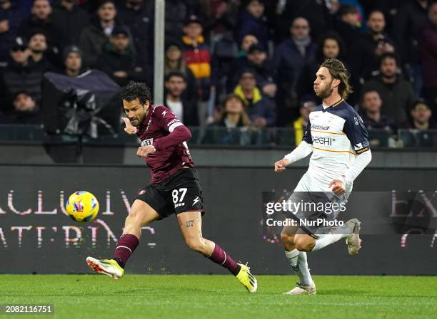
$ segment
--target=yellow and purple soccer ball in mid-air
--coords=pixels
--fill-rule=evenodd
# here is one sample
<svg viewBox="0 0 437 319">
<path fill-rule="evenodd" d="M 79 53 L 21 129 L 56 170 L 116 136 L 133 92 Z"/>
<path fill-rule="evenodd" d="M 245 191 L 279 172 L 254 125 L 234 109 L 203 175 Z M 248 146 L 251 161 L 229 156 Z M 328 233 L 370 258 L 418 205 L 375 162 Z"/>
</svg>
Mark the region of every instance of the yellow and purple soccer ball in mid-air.
<svg viewBox="0 0 437 319">
<path fill-rule="evenodd" d="M 90 192 L 74 192 L 67 200 L 65 210 L 74 221 L 87 223 L 96 218 L 99 202 Z"/>
</svg>

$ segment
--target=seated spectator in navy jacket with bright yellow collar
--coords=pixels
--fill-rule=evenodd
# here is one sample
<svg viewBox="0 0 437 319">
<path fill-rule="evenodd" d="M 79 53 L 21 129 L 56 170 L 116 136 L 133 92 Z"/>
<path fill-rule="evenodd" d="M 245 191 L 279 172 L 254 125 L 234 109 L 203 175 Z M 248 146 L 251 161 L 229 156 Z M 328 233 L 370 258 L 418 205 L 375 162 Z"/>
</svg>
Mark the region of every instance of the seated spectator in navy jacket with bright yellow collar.
<svg viewBox="0 0 437 319">
<path fill-rule="evenodd" d="M 241 72 L 239 84 L 233 93 L 246 105 L 246 112 L 256 127 L 275 126 L 276 112 L 273 100 L 263 96 L 256 87 L 256 73 L 251 69 Z"/>
</svg>

